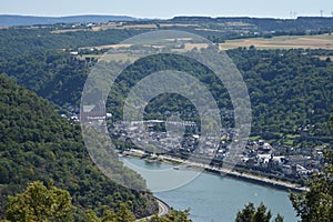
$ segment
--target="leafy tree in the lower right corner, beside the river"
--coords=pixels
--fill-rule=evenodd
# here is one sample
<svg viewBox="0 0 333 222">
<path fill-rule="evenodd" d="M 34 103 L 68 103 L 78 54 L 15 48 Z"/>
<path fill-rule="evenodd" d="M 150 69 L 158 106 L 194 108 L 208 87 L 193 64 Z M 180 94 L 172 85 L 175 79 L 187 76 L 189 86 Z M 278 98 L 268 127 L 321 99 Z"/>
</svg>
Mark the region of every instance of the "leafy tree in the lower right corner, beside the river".
<svg viewBox="0 0 333 222">
<path fill-rule="evenodd" d="M 290 200 L 303 222 L 333 221 L 333 152 L 325 153 L 327 165 L 309 181 L 309 191 L 291 193 Z"/>
</svg>

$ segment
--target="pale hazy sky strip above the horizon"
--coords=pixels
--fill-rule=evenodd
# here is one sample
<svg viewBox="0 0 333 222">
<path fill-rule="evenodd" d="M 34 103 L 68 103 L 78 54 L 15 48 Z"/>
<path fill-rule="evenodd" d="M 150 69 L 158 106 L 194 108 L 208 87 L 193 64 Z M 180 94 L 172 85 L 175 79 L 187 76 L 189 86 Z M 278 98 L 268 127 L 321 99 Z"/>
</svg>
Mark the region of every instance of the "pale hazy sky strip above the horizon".
<svg viewBox="0 0 333 222">
<path fill-rule="evenodd" d="M 140 18 L 174 16 L 332 17 L 333 0 L 0 0 L 0 14 L 115 14 Z M 294 13 L 295 12 L 295 13 Z"/>
</svg>

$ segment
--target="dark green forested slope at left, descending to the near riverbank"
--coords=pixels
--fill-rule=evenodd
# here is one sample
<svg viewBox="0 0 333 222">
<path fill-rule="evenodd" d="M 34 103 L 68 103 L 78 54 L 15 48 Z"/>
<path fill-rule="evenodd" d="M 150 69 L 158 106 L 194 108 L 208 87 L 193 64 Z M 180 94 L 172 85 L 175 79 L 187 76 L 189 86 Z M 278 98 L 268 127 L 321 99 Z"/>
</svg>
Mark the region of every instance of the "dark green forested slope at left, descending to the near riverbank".
<svg viewBox="0 0 333 222">
<path fill-rule="evenodd" d="M 155 210 L 152 195 L 118 185 L 92 163 L 80 127 L 60 118 L 50 103 L 0 75 L 0 218 L 7 196 L 21 192 L 31 181 L 53 181 L 72 196 L 74 218 L 102 205 L 118 209 L 131 203 L 138 215 Z M 112 163 L 127 180 L 144 184 L 140 175 Z"/>
</svg>

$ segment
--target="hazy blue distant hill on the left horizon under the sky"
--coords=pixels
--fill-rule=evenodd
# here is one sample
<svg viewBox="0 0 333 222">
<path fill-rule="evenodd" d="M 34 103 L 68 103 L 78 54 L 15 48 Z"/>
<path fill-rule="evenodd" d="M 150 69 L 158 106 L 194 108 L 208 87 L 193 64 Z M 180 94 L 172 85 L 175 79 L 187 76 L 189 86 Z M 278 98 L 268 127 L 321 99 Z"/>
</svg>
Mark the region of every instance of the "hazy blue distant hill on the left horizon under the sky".
<svg viewBox="0 0 333 222">
<path fill-rule="evenodd" d="M 31 17 L 0 14 L 0 27 L 74 23 L 74 22 L 108 22 L 108 21 L 134 21 L 138 20 L 127 16 L 72 16 L 72 17 Z"/>
</svg>

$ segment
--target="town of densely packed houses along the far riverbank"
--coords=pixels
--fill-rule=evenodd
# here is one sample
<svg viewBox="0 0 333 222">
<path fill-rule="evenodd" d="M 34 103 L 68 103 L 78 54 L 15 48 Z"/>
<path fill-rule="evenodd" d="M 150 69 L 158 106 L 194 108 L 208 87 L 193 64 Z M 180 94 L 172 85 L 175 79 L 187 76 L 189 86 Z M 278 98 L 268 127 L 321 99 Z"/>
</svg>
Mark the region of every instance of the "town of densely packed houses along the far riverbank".
<svg viewBox="0 0 333 222">
<path fill-rule="evenodd" d="M 131 140 L 135 148 L 150 153 L 193 154 L 222 162 L 231 152 L 233 129 L 224 130 L 219 137 L 201 137 L 195 133 L 183 133 L 186 128 L 194 128 L 194 122 L 167 122 L 182 129 L 164 131 L 162 120 L 118 122 L 109 128 L 112 138 Z M 285 178 L 309 178 L 319 172 L 323 164 L 323 152 L 320 149 L 294 149 L 270 144 L 263 140 L 249 140 L 242 153 L 239 153 L 240 165 L 253 171 Z"/>
</svg>

